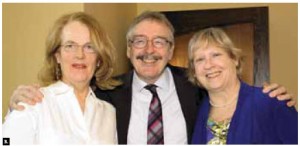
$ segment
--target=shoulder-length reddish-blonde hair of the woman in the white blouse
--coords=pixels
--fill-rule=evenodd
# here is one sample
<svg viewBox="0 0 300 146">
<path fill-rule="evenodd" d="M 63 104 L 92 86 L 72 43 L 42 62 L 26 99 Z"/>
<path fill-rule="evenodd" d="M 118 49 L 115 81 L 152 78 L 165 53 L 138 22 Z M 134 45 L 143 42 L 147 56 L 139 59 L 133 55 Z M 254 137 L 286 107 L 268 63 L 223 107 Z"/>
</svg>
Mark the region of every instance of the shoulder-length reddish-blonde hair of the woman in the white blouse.
<svg viewBox="0 0 300 146">
<path fill-rule="evenodd" d="M 97 20 L 84 12 L 70 13 L 55 21 L 46 39 L 46 58 L 38 75 L 39 81 L 43 86 L 47 86 L 61 79 L 60 67 L 56 61 L 55 53 L 62 42 L 63 28 L 74 21 L 88 27 L 91 41 L 97 48 L 97 62 L 100 62 L 101 65 L 96 68 L 94 73 L 95 84 L 101 89 L 113 89 L 120 84 L 119 81 L 111 78 L 115 63 L 115 48 Z"/>
</svg>

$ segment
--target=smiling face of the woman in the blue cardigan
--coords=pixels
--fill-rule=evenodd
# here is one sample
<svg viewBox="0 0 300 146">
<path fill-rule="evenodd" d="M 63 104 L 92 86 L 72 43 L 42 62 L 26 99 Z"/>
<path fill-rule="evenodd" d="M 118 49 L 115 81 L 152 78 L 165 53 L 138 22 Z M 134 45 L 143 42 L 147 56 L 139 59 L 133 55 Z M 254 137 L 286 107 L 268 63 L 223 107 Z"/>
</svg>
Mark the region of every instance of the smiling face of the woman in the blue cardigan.
<svg viewBox="0 0 300 146">
<path fill-rule="evenodd" d="M 195 76 L 208 91 L 220 91 L 231 87 L 238 80 L 238 62 L 224 49 L 209 45 L 194 52 Z"/>
</svg>

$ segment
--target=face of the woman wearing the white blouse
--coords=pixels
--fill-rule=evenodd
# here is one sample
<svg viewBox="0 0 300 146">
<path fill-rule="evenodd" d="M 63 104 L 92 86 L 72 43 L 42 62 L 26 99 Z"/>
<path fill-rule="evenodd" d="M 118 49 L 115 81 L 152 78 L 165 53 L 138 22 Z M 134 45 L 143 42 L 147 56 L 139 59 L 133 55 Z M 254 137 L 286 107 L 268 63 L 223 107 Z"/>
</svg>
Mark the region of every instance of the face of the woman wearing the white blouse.
<svg viewBox="0 0 300 146">
<path fill-rule="evenodd" d="M 97 53 L 91 53 L 88 48 L 91 44 L 89 29 L 78 21 L 70 22 L 64 26 L 61 40 L 63 46 L 55 57 L 61 66 L 62 81 L 71 85 L 89 84 L 97 64 Z M 71 51 L 66 48 L 70 45 L 79 47 Z"/>
</svg>

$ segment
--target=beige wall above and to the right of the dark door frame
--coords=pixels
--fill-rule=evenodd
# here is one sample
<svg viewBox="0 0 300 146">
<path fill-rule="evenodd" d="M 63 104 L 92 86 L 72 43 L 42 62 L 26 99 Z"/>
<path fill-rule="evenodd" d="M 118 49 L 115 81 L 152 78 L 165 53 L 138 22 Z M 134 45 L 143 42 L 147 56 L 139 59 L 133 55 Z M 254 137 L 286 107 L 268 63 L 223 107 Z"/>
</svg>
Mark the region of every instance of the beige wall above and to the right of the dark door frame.
<svg viewBox="0 0 300 146">
<path fill-rule="evenodd" d="M 294 4 L 138 4 L 137 12 L 145 10 L 179 11 L 195 9 L 269 7 L 270 79 L 284 85 L 298 97 L 298 5 Z"/>
</svg>

